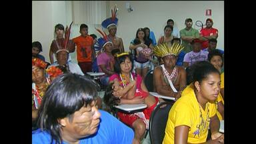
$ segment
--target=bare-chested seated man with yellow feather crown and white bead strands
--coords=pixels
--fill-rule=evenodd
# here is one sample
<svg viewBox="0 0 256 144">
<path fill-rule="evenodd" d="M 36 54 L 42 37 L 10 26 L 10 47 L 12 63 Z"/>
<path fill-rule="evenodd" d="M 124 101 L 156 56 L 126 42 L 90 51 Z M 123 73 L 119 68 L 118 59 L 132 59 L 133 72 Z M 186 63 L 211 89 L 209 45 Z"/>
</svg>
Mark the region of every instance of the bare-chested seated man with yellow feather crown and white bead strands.
<svg viewBox="0 0 256 144">
<path fill-rule="evenodd" d="M 174 43 L 169 47 L 166 44 L 154 47 L 154 53 L 163 59 L 163 64 L 156 67 L 153 71 L 154 89 L 160 95 L 181 97 L 181 92 L 187 86 L 186 72 L 183 67 L 176 65 L 177 55 L 183 46 Z"/>
</svg>

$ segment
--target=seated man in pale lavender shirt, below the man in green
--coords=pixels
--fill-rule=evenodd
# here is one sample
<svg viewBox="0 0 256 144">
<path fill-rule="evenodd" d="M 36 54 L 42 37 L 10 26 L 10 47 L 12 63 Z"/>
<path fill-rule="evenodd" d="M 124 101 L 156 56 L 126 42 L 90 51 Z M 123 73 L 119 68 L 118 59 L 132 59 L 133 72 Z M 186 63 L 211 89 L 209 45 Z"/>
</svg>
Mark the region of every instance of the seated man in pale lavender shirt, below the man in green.
<svg viewBox="0 0 256 144">
<path fill-rule="evenodd" d="M 183 60 L 183 67 L 185 67 L 185 69 L 193 65 L 193 63 L 207 61 L 208 52 L 201 50 L 201 41 L 199 39 L 193 39 L 191 45 L 192 51 L 186 53 Z"/>
</svg>

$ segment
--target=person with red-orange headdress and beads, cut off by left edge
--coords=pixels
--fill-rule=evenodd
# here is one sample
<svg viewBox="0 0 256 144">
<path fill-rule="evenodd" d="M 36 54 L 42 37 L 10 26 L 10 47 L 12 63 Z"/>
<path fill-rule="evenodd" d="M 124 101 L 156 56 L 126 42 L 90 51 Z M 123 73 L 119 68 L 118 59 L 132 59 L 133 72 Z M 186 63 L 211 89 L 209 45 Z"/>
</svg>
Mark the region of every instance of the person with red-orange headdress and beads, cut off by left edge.
<svg viewBox="0 0 256 144">
<path fill-rule="evenodd" d="M 37 118 L 37 112 L 43 95 L 51 83 L 49 75 L 45 72 L 47 63 L 41 59 L 32 59 L 32 121 Z"/>
</svg>

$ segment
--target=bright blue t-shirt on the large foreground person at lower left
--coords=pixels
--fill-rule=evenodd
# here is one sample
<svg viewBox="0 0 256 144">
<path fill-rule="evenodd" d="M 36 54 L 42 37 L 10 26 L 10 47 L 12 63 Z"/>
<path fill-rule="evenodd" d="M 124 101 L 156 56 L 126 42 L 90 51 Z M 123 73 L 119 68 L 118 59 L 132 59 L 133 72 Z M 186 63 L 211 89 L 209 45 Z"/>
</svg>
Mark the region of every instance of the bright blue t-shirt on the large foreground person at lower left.
<svg viewBox="0 0 256 144">
<path fill-rule="evenodd" d="M 101 122 L 99 124 L 97 133 L 80 139 L 79 144 L 132 143 L 134 137 L 133 129 L 127 127 L 127 125 L 121 123 L 121 121 L 106 111 L 99 110 L 99 112 L 101 113 Z M 32 143 L 51 143 L 51 135 L 47 133 L 47 131 L 41 131 L 41 129 L 32 131 Z M 53 141 L 53 143 L 55 143 L 55 141 Z M 66 143 L 67 142 L 63 141 L 62 144 Z"/>
</svg>

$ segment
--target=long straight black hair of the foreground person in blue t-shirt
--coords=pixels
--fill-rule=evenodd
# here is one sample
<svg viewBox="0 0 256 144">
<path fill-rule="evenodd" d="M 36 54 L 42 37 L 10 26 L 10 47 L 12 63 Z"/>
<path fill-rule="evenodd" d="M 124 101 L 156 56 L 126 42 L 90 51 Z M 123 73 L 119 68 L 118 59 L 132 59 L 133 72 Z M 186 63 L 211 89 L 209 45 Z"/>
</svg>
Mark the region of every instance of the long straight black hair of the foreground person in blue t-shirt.
<svg viewBox="0 0 256 144">
<path fill-rule="evenodd" d="M 38 125 L 49 131 L 51 143 L 62 143 L 58 119 L 68 117 L 72 122 L 75 111 L 96 99 L 98 87 L 91 78 L 73 73 L 60 75 L 47 87 L 39 107 Z"/>
</svg>

